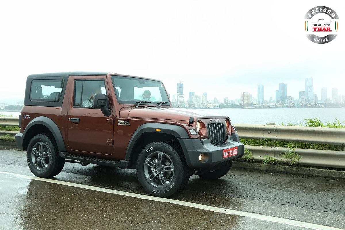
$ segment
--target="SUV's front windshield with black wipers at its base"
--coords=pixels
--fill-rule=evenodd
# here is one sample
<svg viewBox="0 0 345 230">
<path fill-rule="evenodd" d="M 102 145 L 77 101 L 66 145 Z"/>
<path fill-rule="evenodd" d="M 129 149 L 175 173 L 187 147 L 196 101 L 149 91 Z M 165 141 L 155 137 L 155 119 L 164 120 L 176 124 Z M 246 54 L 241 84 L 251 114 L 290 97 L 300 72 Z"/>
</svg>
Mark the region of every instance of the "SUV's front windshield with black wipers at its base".
<svg viewBox="0 0 345 230">
<path fill-rule="evenodd" d="M 116 90 L 116 98 L 120 104 L 136 104 L 137 101 L 149 101 L 148 104 L 169 102 L 168 95 L 159 81 L 141 78 L 111 76 Z M 165 104 L 170 105 L 170 102 Z"/>
</svg>

